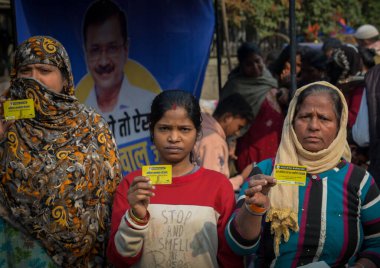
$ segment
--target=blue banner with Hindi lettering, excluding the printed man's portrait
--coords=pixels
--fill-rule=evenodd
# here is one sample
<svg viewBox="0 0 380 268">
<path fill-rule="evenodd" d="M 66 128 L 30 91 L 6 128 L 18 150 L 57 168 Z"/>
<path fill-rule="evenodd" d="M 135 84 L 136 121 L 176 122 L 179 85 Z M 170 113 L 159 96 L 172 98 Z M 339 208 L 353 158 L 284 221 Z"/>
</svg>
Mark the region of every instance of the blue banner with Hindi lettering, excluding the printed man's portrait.
<svg viewBox="0 0 380 268">
<path fill-rule="evenodd" d="M 18 42 L 33 35 L 50 35 L 59 40 L 71 59 L 74 80 L 78 86 L 78 99 L 96 107 L 88 97 L 89 91 L 86 91 L 86 88 L 92 90 L 94 84 L 88 83 L 82 37 L 82 20 L 91 2 L 14 0 L 14 6 Z M 126 66 L 130 67 L 124 68 L 127 80 L 132 81 L 131 78 L 134 78 L 135 85 L 138 85 L 139 81 L 146 82 L 146 76 L 129 77 L 126 73 L 142 65 L 145 67 L 143 70 L 148 71 L 145 71 L 145 74 L 153 76 L 152 87 L 155 86 L 155 89 L 150 87 L 145 89 L 152 90 L 155 94 L 160 90 L 183 89 L 199 97 L 214 32 L 213 2 L 211 0 L 114 2 L 118 3 L 127 14 L 128 58 L 133 59 L 127 61 Z M 130 64 L 136 61 L 141 65 L 131 67 Z M 85 90 L 82 90 L 83 88 Z M 126 94 L 132 94 L 131 89 L 128 87 Z M 84 95 L 81 92 L 85 92 Z M 124 89 L 120 92 L 124 92 Z M 139 92 L 143 94 L 143 90 Z M 117 106 L 118 108 L 115 108 L 111 114 L 101 114 L 109 123 L 116 138 L 123 173 L 126 174 L 143 165 L 158 163 L 159 157 L 150 140 L 149 131 L 147 129 L 144 132 L 138 131 L 144 122 L 147 122 L 146 113 L 149 112 L 152 94 L 149 95 L 151 99 L 147 97 L 148 95 L 133 95 L 134 99 L 120 97 L 122 95 L 122 93 L 119 95 L 121 105 Z M 82 99 L 83 96 L 85 97 Z M 87 98 L 91 99 L 90 103 Z M 136 122 L 140 125 L 137 126 Z"/>
</svg>

